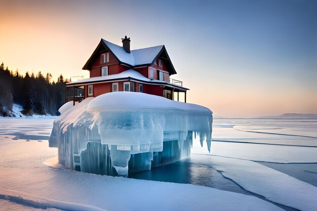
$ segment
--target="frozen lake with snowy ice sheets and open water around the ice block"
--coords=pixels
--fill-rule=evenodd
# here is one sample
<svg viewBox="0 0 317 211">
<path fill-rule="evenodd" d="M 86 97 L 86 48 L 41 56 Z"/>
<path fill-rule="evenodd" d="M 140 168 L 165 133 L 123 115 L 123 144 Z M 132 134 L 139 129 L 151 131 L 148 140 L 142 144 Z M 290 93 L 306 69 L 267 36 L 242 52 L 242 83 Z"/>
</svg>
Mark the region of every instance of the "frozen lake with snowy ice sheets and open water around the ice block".
<svg viewBox="0 0 317 211">
<path fill-rule="evenodd" d="M 129 176 L 142 180 L 54 164 L 57 149 L 47 143 L 53 120 L 0 119 L 2 210 L 317 207 L 316 119 L 215 119 L 211 153 L 195 141 L 190 158 Z"/>
</svg>

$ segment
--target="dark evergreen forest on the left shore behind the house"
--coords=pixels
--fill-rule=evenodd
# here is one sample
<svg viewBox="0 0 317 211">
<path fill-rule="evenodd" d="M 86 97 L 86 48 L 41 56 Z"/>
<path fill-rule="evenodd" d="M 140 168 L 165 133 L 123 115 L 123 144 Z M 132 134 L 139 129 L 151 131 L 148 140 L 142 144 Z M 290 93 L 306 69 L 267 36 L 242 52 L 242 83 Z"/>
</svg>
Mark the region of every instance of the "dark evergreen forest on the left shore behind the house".
<svg viewBox="0 0 317 211">
<path fill-rule="evenodd" d="M 39 71 L 21 75 L 13 72 L 4 63 L 0 65 L 0 116 L 14 116 L 13 103 L 23 107 L 24 115 L 58 115 L 58 109 L 65 103 L 65 84 L 61 74 L 57 81 L 51 82 L 52 74 L 46 76 Z"/>
</svg>

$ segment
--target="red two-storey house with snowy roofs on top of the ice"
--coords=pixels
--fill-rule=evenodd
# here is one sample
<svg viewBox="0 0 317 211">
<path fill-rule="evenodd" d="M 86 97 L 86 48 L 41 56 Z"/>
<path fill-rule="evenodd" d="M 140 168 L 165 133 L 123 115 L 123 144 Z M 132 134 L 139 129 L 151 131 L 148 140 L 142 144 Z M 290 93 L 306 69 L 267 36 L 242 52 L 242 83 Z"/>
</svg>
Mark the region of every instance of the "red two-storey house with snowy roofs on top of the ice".
<svg viewBox="0 0 317 211">
<path fill-rule="evenodd" d="M 66 102 L 82 101 L 109 92 L 143 92 L 174 100 L 174 93 L 184 93 L 182 81 L 170 78 L 176 70 L 165 46 L 130 50 L 130 37 L 122 38 L 123 46 L 101 39 L 83 70 L 90 77 L 66 84 Z M 175 94 L 176 95 L 176 94 Z M 176 98 L 176 97 L 175 97 Z"/>
</svg>

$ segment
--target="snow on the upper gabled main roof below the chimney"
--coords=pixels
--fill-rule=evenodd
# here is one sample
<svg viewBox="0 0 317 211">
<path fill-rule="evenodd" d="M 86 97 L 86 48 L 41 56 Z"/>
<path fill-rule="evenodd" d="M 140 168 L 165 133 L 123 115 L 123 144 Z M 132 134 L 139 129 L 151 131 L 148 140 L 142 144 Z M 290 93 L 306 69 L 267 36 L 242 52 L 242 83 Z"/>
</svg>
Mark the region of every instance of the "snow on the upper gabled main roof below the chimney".
<svg viewBox="0 0 317 211">
<path fill-rule="evenodd" d="M 112 53 L 121 61 L 131 66 L 151 64 L 157 54 L 160 53 L 163 46 L 155 46 L 145 49 L 132 50 L 127 53 L 122 46 L 115 45 L 109 41 L 102 39 Z"/>
</svg>

